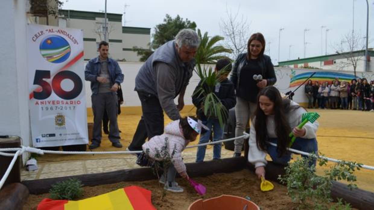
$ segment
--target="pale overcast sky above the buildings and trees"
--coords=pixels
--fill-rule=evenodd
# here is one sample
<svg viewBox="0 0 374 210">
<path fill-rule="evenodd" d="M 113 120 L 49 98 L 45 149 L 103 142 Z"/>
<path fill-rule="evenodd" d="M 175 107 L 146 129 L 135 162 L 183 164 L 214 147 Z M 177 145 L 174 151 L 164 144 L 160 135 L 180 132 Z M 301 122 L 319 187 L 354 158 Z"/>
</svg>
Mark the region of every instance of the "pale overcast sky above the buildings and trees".
<svg viewBox="0 0 374 210">
<path fill-rule="evenodd" d="M 279 28 L 281 32 L 281 61 L 304 57 L 304 29 L 306 32 L 306 57 L 321 55 L 321 26 L 327 26 L 327 53 L 340 44 L 344 34 L 352 32 L 354 1 L 354 30 L 366 36 L 365 0 L 107 0 L 108 13 L 123 13 L 126 7 L 126 26 L 153 28 L 163 22 L 166 14 L 180 15 L 195 21 L 197 28 L 209 36 L 222 35 L 220 22 L 227 19 L 227 8 L 248 18 L 251 33 L 261 32 L 270 44 L 270 57 L 278 62 Z M 374 0 L 369 1 L 369 39 L 374 40 Z M 69 0 L 63 9 L 99 12 L 105 0 Z M 123 18 L 123 17 L 122 17 Z M 122 21 L 123 24 L 123 21 Z M 322 46 L 325 54 L 325 32 Z M 364 44 L 364 40 L 362 40 Z M 289 56 L 289 46 L 291 55 Z M 374 41 L 369 48 L 374 46 Z M 269 44 L 267 44 L 269 47 Z"/>
</svg>

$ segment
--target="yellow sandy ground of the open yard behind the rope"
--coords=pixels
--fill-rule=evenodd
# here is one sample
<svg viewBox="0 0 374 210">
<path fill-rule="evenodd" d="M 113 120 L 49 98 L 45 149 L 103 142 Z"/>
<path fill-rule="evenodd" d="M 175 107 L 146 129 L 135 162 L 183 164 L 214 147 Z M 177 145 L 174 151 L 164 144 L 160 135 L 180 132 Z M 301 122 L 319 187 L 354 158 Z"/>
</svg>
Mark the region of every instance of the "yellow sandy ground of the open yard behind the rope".
<svg viewBox="0 0 374 210">
<path fill-rule="evenodd" d="M 187 109 L 186 109 L 187 110 Z M 311 109 L 310 112 L 318 112 L 319 129 L 317 140 L 319 151 L 328 157 L 347 161 L 356 161 L 366 165 L 374 166 L 374 113 L 353 110 L 320 110 Z M 188 109 L 182 115 L 193 115 L 194 110 Z M 112 147 L 107 136 L 104 135 L 100 151 L 120 151 L 130 144 L 140 115 L 123 115 L 118 118 L 123 148 Z M 88 117 L 88 122 L 92 122 L 93 117 Z M 171 122 L 165 115 L 165 125 Z M 197 144 L 198 141 L 193 142 Z M 208 147 L 211 148 L 211 147 Z M 224 149 L 224 147 L 222 147 Z M 108 157 L 118 157 L 116 155 L 52 155 L 46 154 L 38 158 L 39 163 L 58 162 L 65 160 L 82 159 L 105 159 Z M 297 156 L 295 156 L 297 157 Z M 329 163 L 330 165 L 332 163 Z M 326 167 L 318 167 L 318 173 L 323 173 Z M 374 171 L 362 169 L 356 172 L 359 188 L 374 192 Z"/>
</svg>

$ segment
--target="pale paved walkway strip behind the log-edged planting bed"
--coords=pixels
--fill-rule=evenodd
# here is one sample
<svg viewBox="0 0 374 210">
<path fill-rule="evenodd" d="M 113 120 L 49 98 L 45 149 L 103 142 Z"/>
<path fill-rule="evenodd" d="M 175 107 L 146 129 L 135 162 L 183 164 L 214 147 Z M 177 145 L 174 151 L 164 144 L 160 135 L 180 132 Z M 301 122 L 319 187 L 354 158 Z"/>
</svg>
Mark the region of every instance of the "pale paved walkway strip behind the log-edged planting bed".
<svg viewBox="0 0 374 210">
<path fill-rule="evenodd" d="M 190 148 L 183 151 L 183 158 L 185 163 L 195 162 L 197 148 Z M 100 155 L 97 155 L 100 156 Z M 46 179 L 61 176 L 72 176 L 89 173 L 111 172 L 121 169 L 139 168 L 135 161 L 134 155 L 123 154 L 118 155 L 120 158 L 106 158 L 106 159 L 90 159 L 78 161 L 59 161 L 51 163 L 38 163 L 38 170 L 27 171 L 25 168 L 21 170 L 21 180 L 31 179 Z M 221 158 L 232 157 L 233 151 L 224 149 L 222 146 Z M 208 146 L 205 154 L 205 160 L 213 159 L 212 146 Z"/>
</svg>

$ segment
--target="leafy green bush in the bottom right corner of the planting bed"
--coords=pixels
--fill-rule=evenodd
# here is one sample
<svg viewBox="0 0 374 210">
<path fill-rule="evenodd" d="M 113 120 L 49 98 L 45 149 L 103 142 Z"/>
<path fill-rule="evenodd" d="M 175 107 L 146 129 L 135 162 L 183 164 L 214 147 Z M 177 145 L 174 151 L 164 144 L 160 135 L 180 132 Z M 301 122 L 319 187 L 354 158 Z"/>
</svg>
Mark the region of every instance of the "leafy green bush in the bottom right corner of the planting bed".
<svg viewBox="0 0 374 210">
<path fill-rule="evenodd" d="M 319 156 L 307 159 L 297 159 L 285 167 L 285 176 L 279 176 L 279 180 L 287 184 L 288 195 L 292 202 L 297 203 L 297 209 L 318 209 L 318 210 L 346 210 L 351 209 L 349 204 L 338 200 L 338 203 L 331 205 L 332 181 L 345 180 L 349 187 L 357 188 L 355 170 L 360 170 L 362 164 L 356 162 L 342 161 L 325 170 L 324 176 L 316 175 L 315 166 L 309 166 L 313 159 L 317 158 L 319 166 L 326 166 L 327 159 Z"/>
</svg>

